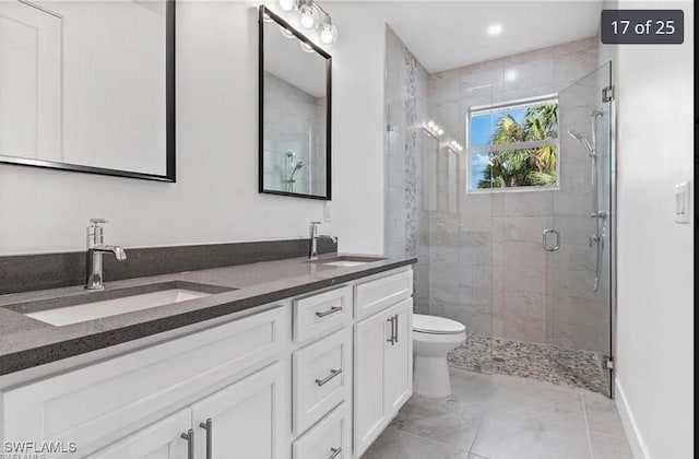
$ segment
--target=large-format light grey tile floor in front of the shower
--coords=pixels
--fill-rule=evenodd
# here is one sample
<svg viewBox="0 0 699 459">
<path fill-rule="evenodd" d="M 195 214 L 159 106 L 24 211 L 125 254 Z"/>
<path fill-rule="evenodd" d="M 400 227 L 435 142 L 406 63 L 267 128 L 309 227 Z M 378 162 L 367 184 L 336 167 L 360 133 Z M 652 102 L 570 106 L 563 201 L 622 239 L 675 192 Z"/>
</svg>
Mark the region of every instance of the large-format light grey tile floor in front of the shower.
<svg viewBox="0 0 699 459">
<path fill-rule="evenodd" d="M 632 459 L 614 402 L 507 375 L 451 370 L 453 395 L 413 398 L 363 459 Z"/>
</svg>

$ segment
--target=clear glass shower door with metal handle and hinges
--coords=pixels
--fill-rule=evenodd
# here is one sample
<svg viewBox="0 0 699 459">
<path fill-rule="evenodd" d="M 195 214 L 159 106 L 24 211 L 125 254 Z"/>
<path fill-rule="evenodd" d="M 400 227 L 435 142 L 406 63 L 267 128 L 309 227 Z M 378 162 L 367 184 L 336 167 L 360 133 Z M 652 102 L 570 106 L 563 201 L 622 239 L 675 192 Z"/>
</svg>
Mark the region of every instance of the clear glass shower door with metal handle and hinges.
<svg viewBox="0 0 699 459">
<path fill-rule="evenodd" d="M 613 104 L 607 62 L 558 94 L 559 189 L 546 251 L 548 358 L 562 384 L 612 391 Z"/>
</svg>

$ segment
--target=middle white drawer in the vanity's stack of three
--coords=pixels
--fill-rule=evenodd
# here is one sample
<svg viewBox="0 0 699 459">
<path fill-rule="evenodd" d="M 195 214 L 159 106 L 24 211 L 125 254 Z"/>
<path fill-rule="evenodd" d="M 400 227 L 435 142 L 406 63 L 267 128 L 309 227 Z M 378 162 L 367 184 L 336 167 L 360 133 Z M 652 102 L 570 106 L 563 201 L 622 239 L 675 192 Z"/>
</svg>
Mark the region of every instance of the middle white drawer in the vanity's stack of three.
<svg viewBox="0 0 699 459">
<path fill-rule="evenodd" d="M 292 358 L 294 432 L 300 434 L 352 393 L 352 329 L 340 330 Z"/>
</svg>

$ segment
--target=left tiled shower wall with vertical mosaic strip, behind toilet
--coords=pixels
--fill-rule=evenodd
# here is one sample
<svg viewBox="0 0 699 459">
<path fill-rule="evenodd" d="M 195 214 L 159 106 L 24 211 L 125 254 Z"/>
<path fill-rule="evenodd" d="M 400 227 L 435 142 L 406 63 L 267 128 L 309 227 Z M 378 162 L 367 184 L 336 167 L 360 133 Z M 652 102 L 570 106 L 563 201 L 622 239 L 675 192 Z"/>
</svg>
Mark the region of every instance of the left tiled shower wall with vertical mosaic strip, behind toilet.
<svg viewBox="0 0 699 459">
<path fill-rule="evenodd" d="M 423 151 L 428 74 L 400 38 L 386 31 L 386 233 L 391 256 L 417 256 L 415 310 L 427 311 L 428 246 L 420 234 Z"/>
</svg>

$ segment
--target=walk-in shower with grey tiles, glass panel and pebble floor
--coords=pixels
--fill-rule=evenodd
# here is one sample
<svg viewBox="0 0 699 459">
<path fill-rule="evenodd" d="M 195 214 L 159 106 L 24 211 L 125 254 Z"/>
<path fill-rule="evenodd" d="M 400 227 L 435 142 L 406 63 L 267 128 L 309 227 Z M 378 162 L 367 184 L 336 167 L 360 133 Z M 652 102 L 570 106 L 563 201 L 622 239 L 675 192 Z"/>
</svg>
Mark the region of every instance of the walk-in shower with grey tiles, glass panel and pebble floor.
<svg viewBox="0 0 699 459">
<path fill-rule="evenodd" d="M 452 91 L 448 79 L 455 74 L 436 76 L 430 117 L 446 134 L 431 139 L 420 131 L 429 145 L 420 212 L 428 259 L 416 289 L 429 291 L 417 292 L 426 297 L 420 311 L 466 326 L 469 339 L 450 354 L 452 366 L 611 395 L 614 114 L 612 103 L 602 102 L 611 75 L 605 63 L 556 91 L 553 140 L 522 146 L 555 152 L 556 183 L 531 189 L 469 188 L 477 183 L 473 167 L 484 146 L 458 152 L 447 148 L 449 140 L 467 145 L 469 107 L 500 107 L 508 95 L 499 85 Z M 531 97 L 542 95 L 536 90 Z M 497 110 L 487 126 L 498 126 Z"/>
</svg>

